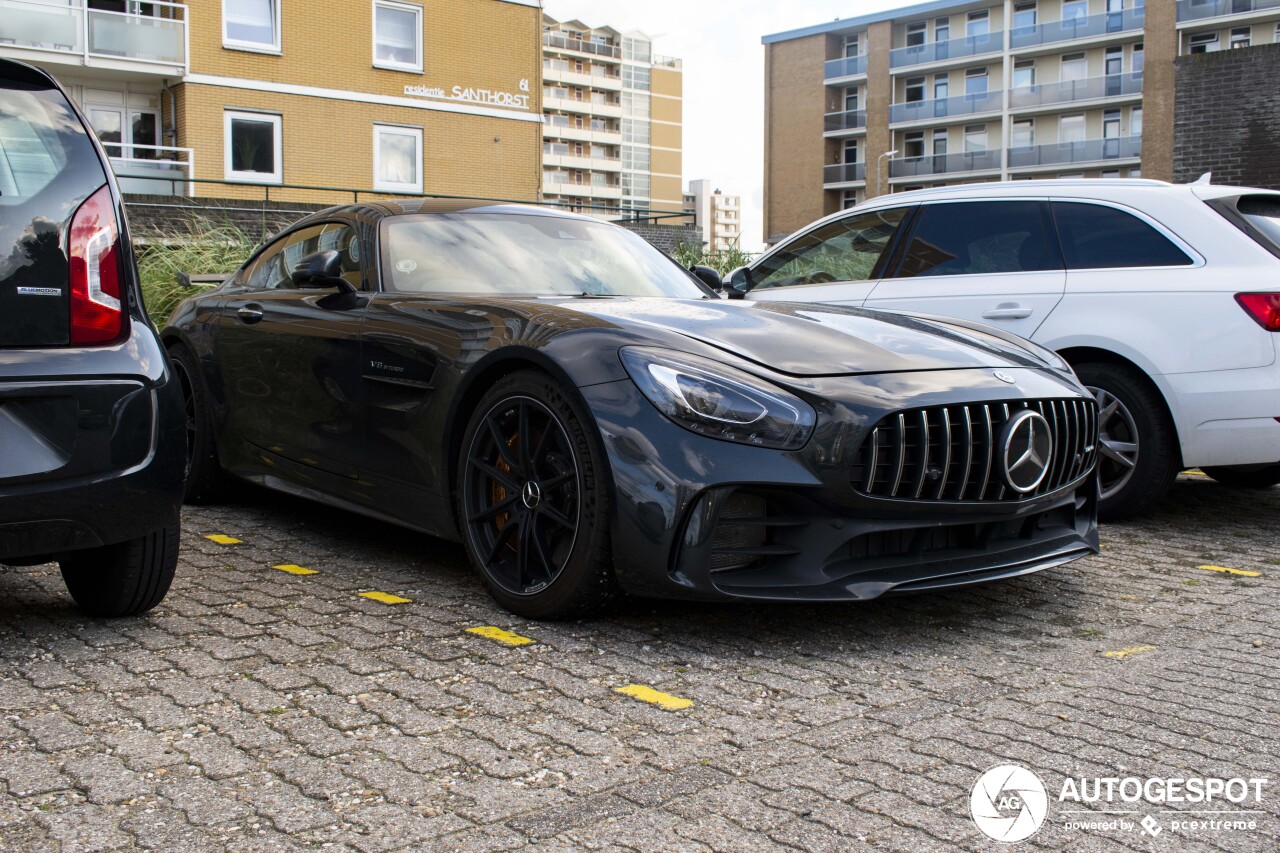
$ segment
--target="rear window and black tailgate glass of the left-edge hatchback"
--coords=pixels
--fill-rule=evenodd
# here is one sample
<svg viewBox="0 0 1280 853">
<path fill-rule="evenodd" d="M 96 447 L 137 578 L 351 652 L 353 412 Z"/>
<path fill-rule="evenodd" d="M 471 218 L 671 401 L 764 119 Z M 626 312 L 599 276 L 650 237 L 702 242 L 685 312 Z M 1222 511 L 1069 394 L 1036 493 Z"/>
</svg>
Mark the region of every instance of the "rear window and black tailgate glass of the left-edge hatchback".
<svg viewBox="0 0 1280 853">
<path fill-rule="evenodd" d="M 31 69 L 0 61 L 0 347 L 69 339 L 65 234 L 105 182 L 65 96 Z"/>
</svg>

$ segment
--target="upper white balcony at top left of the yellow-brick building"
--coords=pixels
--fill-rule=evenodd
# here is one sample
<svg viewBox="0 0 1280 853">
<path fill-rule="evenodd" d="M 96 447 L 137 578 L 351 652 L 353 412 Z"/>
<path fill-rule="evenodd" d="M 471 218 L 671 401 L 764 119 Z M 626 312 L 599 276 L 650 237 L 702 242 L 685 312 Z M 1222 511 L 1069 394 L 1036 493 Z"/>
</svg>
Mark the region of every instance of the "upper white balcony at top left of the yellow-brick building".
<svg viewBox="0 0 1280 853">
<path fill-rule="evenodd" d="M 0 54 L 164 77 L 186 74 L 187 6 L 160 0 L 142 5 L 155 14 L 91 9 L 88 0 L 60 5 L 0 0 Z"/>
</svg>

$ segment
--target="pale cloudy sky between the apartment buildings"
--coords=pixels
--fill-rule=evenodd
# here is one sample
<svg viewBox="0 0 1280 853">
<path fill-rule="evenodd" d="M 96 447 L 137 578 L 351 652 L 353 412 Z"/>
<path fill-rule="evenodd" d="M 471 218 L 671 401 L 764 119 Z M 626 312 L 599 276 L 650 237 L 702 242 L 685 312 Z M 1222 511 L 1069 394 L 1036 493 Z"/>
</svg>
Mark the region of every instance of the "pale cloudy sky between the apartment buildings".
<svg viewBox="0 0 1280 853">
<path fill-rule="evenodd" d="M 684 174 L 742 197 L 742 248 L 763 245 L 764 45 L 768 33 L 922 0 L 543 0 L 557 20 L 639 29 L 685 68 Z"/>
</svg>

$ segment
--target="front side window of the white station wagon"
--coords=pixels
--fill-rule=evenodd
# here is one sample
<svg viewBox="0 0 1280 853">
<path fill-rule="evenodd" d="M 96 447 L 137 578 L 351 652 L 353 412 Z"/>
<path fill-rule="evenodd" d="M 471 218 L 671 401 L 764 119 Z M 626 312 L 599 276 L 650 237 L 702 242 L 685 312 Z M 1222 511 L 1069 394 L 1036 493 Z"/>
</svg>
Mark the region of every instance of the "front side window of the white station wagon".
<svg viewBox="0 0 1280 853">
<path fill-rule="evenodd" d="M 753 289 L 868 280 L 908 210 L 856 214 L 809 232 L 751 270 Z"/>
</svg>

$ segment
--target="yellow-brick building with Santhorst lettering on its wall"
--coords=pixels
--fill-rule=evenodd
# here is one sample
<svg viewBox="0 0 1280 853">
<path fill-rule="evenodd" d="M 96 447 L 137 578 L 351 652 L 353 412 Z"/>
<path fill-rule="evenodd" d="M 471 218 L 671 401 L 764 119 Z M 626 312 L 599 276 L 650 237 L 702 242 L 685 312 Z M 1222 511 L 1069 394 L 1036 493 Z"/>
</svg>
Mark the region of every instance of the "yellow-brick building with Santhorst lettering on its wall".
<svg viewBox="0 0 1280 853">
<path fill-rule="evenodd" d="M 0 0 L 0 56 L 67 87 L 125 191 L 534 200 L 539 6 Z"/>
</svg>

